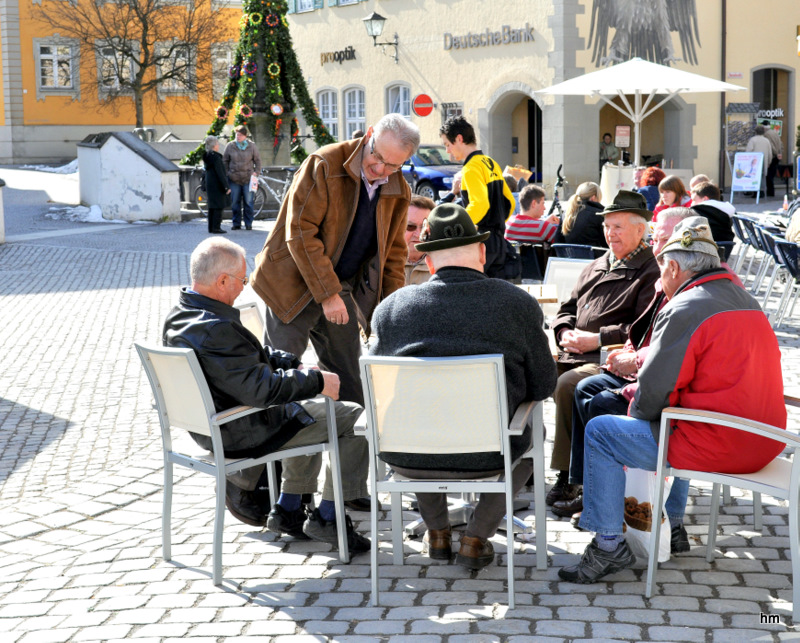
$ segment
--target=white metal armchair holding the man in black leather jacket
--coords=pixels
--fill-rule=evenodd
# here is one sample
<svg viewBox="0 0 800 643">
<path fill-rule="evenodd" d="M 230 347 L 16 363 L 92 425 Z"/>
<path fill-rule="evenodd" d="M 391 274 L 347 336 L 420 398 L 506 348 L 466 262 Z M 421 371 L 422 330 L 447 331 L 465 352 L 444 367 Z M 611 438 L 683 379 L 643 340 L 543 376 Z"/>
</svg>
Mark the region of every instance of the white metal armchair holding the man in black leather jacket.
<svg viewBox="0 0 800 643">
<path fill-rule="evenodd" d="M 216 508 L 214 510 L 213 572 L 214 585 L 222 583 L 222 529 L 225 516 L 225 476 L 250 467 L 267 465 L 270 494 L 275 502 L 276 460 L 300 455 L 311 455 L 326 451 L 331 465 L 334 485 L 336 524 L 339 535 L 339 558 L 350 560 L 347 532 L 344 520 L 344 499 L 339 464 L 339 441 L 336 432 L 336 413 L 333 400 L 325 398 L 328 414 L 328 442 L 292 449 L 283 449 L 259 458 L 225 458 L 222 448 L 222 427 L 232 420 L 257 413 L 262 409 L 252 406 L 237 406 L 217 412 L 208 389 L 205 375 L 194 351 L 190 348 L 168 348 L 134 343 L 142 365 L 150 380 L 156 409 L 161 422 L 161 437 L 164 448 L 164 508 L 162 516 L 162 552 L 164 560 L 171 560 L 171 515 L 172 515 L 172 465 L 178 464 L 195 471 L 214 476 L 216 486 Z M 179 432 L 178 432 L 179 431 Z M 211 438 L 213 452 L 209 453 L 194 442 L 189 431 Z M 177 432 L 177 434 L 176 434 Z M 173 437 L 175 438 L 173 441 Z"/>
</svg>

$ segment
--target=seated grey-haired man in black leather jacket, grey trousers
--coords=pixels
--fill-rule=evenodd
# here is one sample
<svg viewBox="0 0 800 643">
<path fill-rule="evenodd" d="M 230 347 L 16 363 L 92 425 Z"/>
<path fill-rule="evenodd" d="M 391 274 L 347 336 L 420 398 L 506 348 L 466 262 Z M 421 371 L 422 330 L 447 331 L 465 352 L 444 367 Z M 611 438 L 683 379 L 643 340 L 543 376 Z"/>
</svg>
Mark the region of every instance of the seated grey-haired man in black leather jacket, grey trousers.
<svg viewBox="0 0 800 643">
<path fill-rule="evenodd" d="M 247 285 L 244 248 L 226 239 L 206 239 L 192 253 L 191 278 L 191 288 L 181 289 L 178 305 L 164 322 L 164 344 L 195 351 L 218 411 L 242 404 L 264 408 L 222 428 L 225 455 L 258 457 L 327 441 L 325 405 L 311 398 L 338 398 L 339 376 L 304 370 L 295 355 L 262 346 L 242 326 L 233 302 Z M 362 409 L 350 402 L 335 406 L 344 499 L 362 498 L 367 495 L 367 441 L 353 434 Z M 211 448 L 209 438 L 192 435 Z M 271 511 L 253 495 L 261 467 L 229 476 L 226 505 L 247 524 L 336 543 L 330 469 L 319 508 L 307 515 L 301 503 L 301 494 L 316 491 L 321 464 L 319 454 L 284 460 L 282 493 Z M 369 540 L 353 530 L 349 516 L 347 532 L 351 553 L 369 549 Z"/>
</svg>

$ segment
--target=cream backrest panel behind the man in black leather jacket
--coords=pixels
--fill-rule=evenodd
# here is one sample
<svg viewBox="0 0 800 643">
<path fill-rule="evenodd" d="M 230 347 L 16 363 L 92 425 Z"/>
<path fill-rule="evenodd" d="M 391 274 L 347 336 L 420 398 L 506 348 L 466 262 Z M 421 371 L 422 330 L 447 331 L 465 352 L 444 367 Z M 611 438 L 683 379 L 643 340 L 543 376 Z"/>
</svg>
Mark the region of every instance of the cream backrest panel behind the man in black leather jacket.
<svg viewBox="0 0 800 643">
<path fill-rule="evenodd" d="M 134 346 L 156 398 L 162 431 L 176 427 L 210 437 L 210 418 L 216 409 L 194 351 L 139 343 Z"/>
</svg>

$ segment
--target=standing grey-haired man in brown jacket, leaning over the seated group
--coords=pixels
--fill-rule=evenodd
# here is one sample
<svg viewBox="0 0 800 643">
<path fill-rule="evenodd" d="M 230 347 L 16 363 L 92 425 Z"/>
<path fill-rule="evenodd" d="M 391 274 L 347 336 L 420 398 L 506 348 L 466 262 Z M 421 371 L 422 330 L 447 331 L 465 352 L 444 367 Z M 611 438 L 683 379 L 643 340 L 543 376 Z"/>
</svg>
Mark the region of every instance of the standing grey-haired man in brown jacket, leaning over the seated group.
<svg viewBox="0 0 800 643">
<path fill-rule="evenodd" d="M 270 346 L 339 375 L 342 400 L 363 404 L 359 322 L 405 281 L 411 198 L 399 171 L 419 129 L 387 114 L 360 139 L 327 145 L 295 174 L 251 283 L 267 304 Z"/>
</svg>

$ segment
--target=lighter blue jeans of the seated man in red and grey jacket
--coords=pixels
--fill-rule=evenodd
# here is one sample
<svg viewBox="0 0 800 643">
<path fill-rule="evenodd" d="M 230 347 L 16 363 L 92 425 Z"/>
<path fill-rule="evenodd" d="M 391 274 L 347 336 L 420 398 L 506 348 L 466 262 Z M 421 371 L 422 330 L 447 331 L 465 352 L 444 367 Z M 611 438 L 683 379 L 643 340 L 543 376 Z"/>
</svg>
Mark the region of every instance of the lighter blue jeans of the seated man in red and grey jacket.
<svg viewBox="0 0 800 643">
<path fill-rule="evenodd" d="M 650 423 L 621 415 L 602 415 L 586 425 L 583 458 L 583 512 L 580 525 L 587 531 L 621 536 L 625 512 L 623 466 L 656 470 L 658 444 Z M 670 523 L 683 521 L 689 481 L 675 478 L 667 498 Z"/>
</svg>

